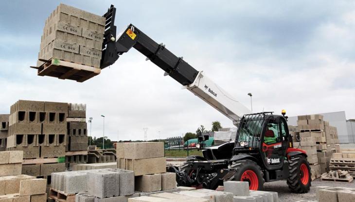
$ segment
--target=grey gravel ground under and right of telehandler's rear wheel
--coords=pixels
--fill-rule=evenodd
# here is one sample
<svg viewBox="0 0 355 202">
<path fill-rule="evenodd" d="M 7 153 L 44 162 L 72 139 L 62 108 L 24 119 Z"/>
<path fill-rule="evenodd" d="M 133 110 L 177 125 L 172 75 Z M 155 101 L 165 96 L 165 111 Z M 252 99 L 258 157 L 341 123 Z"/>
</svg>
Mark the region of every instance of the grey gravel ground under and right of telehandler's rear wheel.
<svg viewBox="0 0 355 202">
<path fill-rule="evenodd" d="M 288 189 L 286 181 L 276 181 L 276 182 L 269 182 L 265 183 L 265 191 L 276 191 L 279 193 L 279 202 L 296 202 L 296 201 L 317 201 L 316 199 L 316 186 L 345 186 L 345 187 L 354 187 L 355 188 L 355 181 L 351 183 L 342 183 L 342 182 L 327 182 L 327 181 L 320 181 L 317 179 L 312 182 L 311 190 L 306 194 L 295 194 L 291 193 Z"/>
</svg>

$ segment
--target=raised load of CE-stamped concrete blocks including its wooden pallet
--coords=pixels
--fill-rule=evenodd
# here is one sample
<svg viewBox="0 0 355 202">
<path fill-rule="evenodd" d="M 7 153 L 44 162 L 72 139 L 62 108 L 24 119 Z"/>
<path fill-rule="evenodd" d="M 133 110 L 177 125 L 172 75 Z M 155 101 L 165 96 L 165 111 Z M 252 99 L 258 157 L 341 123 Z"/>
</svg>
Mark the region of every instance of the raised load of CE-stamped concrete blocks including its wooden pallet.
<svg viewBox="0 0 355 202">
<path fill-rule="evenodd" d="M 105 21 L 60 4 L 45 22 L 34 67 L 38 75 L 83 82 L 100 74 Z"/>
</svg>

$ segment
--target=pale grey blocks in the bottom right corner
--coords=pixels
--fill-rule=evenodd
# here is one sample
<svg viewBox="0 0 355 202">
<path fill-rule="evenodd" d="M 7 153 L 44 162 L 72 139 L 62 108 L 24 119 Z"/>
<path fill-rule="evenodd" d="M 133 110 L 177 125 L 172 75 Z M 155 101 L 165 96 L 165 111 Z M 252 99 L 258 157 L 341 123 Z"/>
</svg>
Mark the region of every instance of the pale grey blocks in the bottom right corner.
<svg viewBox="0 0 355 202">
<path fill-rule="evenodd" d="M 319 202 L 354 202 L 355 188 L 351 187 L 317 187 L 316 195 Z"/>
</svg>

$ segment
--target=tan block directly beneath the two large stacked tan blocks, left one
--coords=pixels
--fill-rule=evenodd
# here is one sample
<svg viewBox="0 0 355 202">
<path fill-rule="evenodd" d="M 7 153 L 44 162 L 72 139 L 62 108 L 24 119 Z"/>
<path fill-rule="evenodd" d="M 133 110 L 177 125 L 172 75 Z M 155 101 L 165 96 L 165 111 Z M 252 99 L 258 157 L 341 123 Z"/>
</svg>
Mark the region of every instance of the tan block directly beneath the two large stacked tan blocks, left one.
<svg viewBox="0 0 355 202">
<path fill-rule="evenodd" d="M 161 190 L 161 174 L 137 176 L 135 178 L 135 189 L 145 192 Z"/>
</svg>

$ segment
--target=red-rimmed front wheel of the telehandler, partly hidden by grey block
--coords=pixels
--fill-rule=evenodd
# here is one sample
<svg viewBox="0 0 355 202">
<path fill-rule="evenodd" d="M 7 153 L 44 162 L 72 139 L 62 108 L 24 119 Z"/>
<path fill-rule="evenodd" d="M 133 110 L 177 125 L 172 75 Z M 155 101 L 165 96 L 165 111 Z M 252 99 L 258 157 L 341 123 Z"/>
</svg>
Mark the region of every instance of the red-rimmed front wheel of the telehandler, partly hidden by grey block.
<svg viewBox="0 0 355 202">
<path fill-rule="evenodd" d="M 249 189 L 250 190 L 263 190 L 265 180 L 263 178 L 264 173 L 261 171 L 260 166 L 256 164 L 256 162 L 251 160 L 239 160 L 232 163 L 230 166 L 231 169 L 235 170 L 235 174 L 232 180 L 234 181 L 248 181 L 249 182 Z M 257 182 L 254 180 L 253 182 L 250 181 L 250 178 L 246 178 L 245 174 L 248 172 L 253 172 L 256 175 Z M 242 177 L 244 179 L 242 179 Z M 256 187 L 257 184 L 257 188 Z"/>
</svg>

